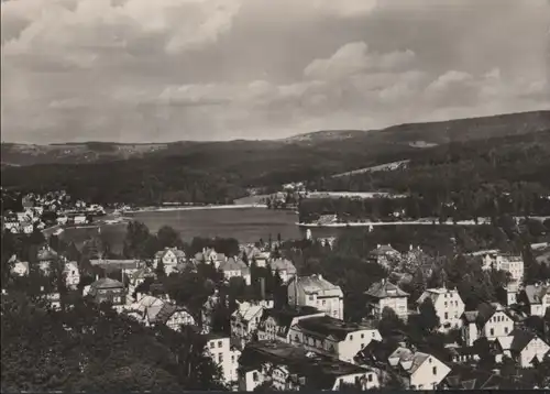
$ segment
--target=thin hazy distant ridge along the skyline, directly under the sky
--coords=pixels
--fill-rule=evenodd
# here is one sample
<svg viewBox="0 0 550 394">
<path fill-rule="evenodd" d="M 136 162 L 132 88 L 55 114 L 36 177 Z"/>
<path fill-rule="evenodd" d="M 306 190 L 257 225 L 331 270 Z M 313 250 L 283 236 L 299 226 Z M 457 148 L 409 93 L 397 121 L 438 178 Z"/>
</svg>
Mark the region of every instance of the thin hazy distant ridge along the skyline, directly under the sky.
<svg viewBox="0 0 550 394">
<path fill-rule="evenodd" d="M 484 118 L 459 119 L 444 122 L 409 123 L 378 131 L 332 130 L 296 135 L 275 141 L 172 142 L 172 143 L 111 143 L 82 142 L 51 145 L 2 143 L 2 168 L 32 164 L 84 164 L 129 158 L 166 157 L 179 155 L 217 156 L 227 152 L 257 153 L 287 150 L 298 144 L 314 152 L 330 147 L 350 150 L 354 145 L 373 146 L 372 152 L 385 152 L 387 145 L 427 147 L 451 141 L 470 141 L 540 131 L 550 124 L 550 111 L 510 113 Z M 244 152 L 242 152 L 244 151 Z M 371 152 L 369 152 L 371 153 Z M 353 168 L 351 168 L 353 169 Z"/>
</svg>

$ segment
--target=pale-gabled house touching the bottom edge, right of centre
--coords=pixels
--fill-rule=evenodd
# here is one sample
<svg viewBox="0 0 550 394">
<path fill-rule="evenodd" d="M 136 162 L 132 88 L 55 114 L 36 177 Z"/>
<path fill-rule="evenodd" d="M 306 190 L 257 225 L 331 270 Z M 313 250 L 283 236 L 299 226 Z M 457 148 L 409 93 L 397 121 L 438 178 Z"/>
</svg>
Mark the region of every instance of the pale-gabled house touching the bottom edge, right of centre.
<svg viewBox="0 0 550 394">
<path fill-rule="evenodd" d="M 410 390 L 435 390 L 451 369 L 432 354 L 399 347 L 388 357 L 392 368 L 405 377 Z"/>
</svg>

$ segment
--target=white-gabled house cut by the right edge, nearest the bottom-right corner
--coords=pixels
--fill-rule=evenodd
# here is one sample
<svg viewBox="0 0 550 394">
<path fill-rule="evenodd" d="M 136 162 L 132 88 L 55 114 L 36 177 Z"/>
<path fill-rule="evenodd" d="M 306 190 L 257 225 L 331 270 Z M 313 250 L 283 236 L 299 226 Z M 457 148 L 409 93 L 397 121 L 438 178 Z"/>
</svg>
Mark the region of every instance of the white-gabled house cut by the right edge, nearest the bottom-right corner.
<svg viewBox="0 0 550 394">
<path fill-rule="evenodd" d="M 540 362 L 550 351 L 550 346 L 539 338 L 535 332 L 515 329 L 507 337 L 499 337 L 496 340 L 496 361 L 502 361 L 503 357 L 517 360 L 520 368 L 535 366 L 534 362 Z"/>
</svg>

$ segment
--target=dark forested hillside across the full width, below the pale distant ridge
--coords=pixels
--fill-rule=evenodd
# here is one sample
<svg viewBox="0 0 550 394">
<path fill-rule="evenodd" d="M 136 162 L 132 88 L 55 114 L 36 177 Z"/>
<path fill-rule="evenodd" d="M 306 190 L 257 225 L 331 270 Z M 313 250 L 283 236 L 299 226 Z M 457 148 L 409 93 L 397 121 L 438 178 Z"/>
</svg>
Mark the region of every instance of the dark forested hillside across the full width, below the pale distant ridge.
<svg viewBox="0 0 550 394">
<path fill-rule="evenodd" d="M 448 129 L 443 129 L 446 123 L 437 124 L 442 128 L 441 135 L 449 138 L 459 135 L 455 130 L 460 122 L 464 122 L 460 135 L 468 138 L 454 139 L 449 144 L 443 136 L 437 143 L 433 138 L 430 140 L 435 123 L 428 123 L 426 134 L 418 131 L 419 125 L 410 125 L 409 131 L 406 125 L 397 127 L 405 128 L 403 133 L 408 138 L 382 131 L 352 132 L 350 138 L 320 139 L 312 143 L 180 143 L 141 158 L 4 166 L 2 186 L 37 191 L 66 189 L 76 198 L 100 204 L 228 204 L 246 195 L 250 187 L 276 188 L 294 180 L 319 179 L 320 183 L 312 185 L 317 189 L 383 187 L 425 193 L 433 183 L 479 187 L 486 177 L 496 182 L 504 173 L 510 174 L 513 182 L 538 182 L 549 173 L 550 112 L 453 121 Z M 498 134 L 507 136 L 493 138 Z M 418 143 L 420 138 L 424 145 Z M 383 172 L 374 178 L 358 175 L 327 180 L 333 174 L 400 160 L 411 160 L 411 169 Z"/>
</svg>

